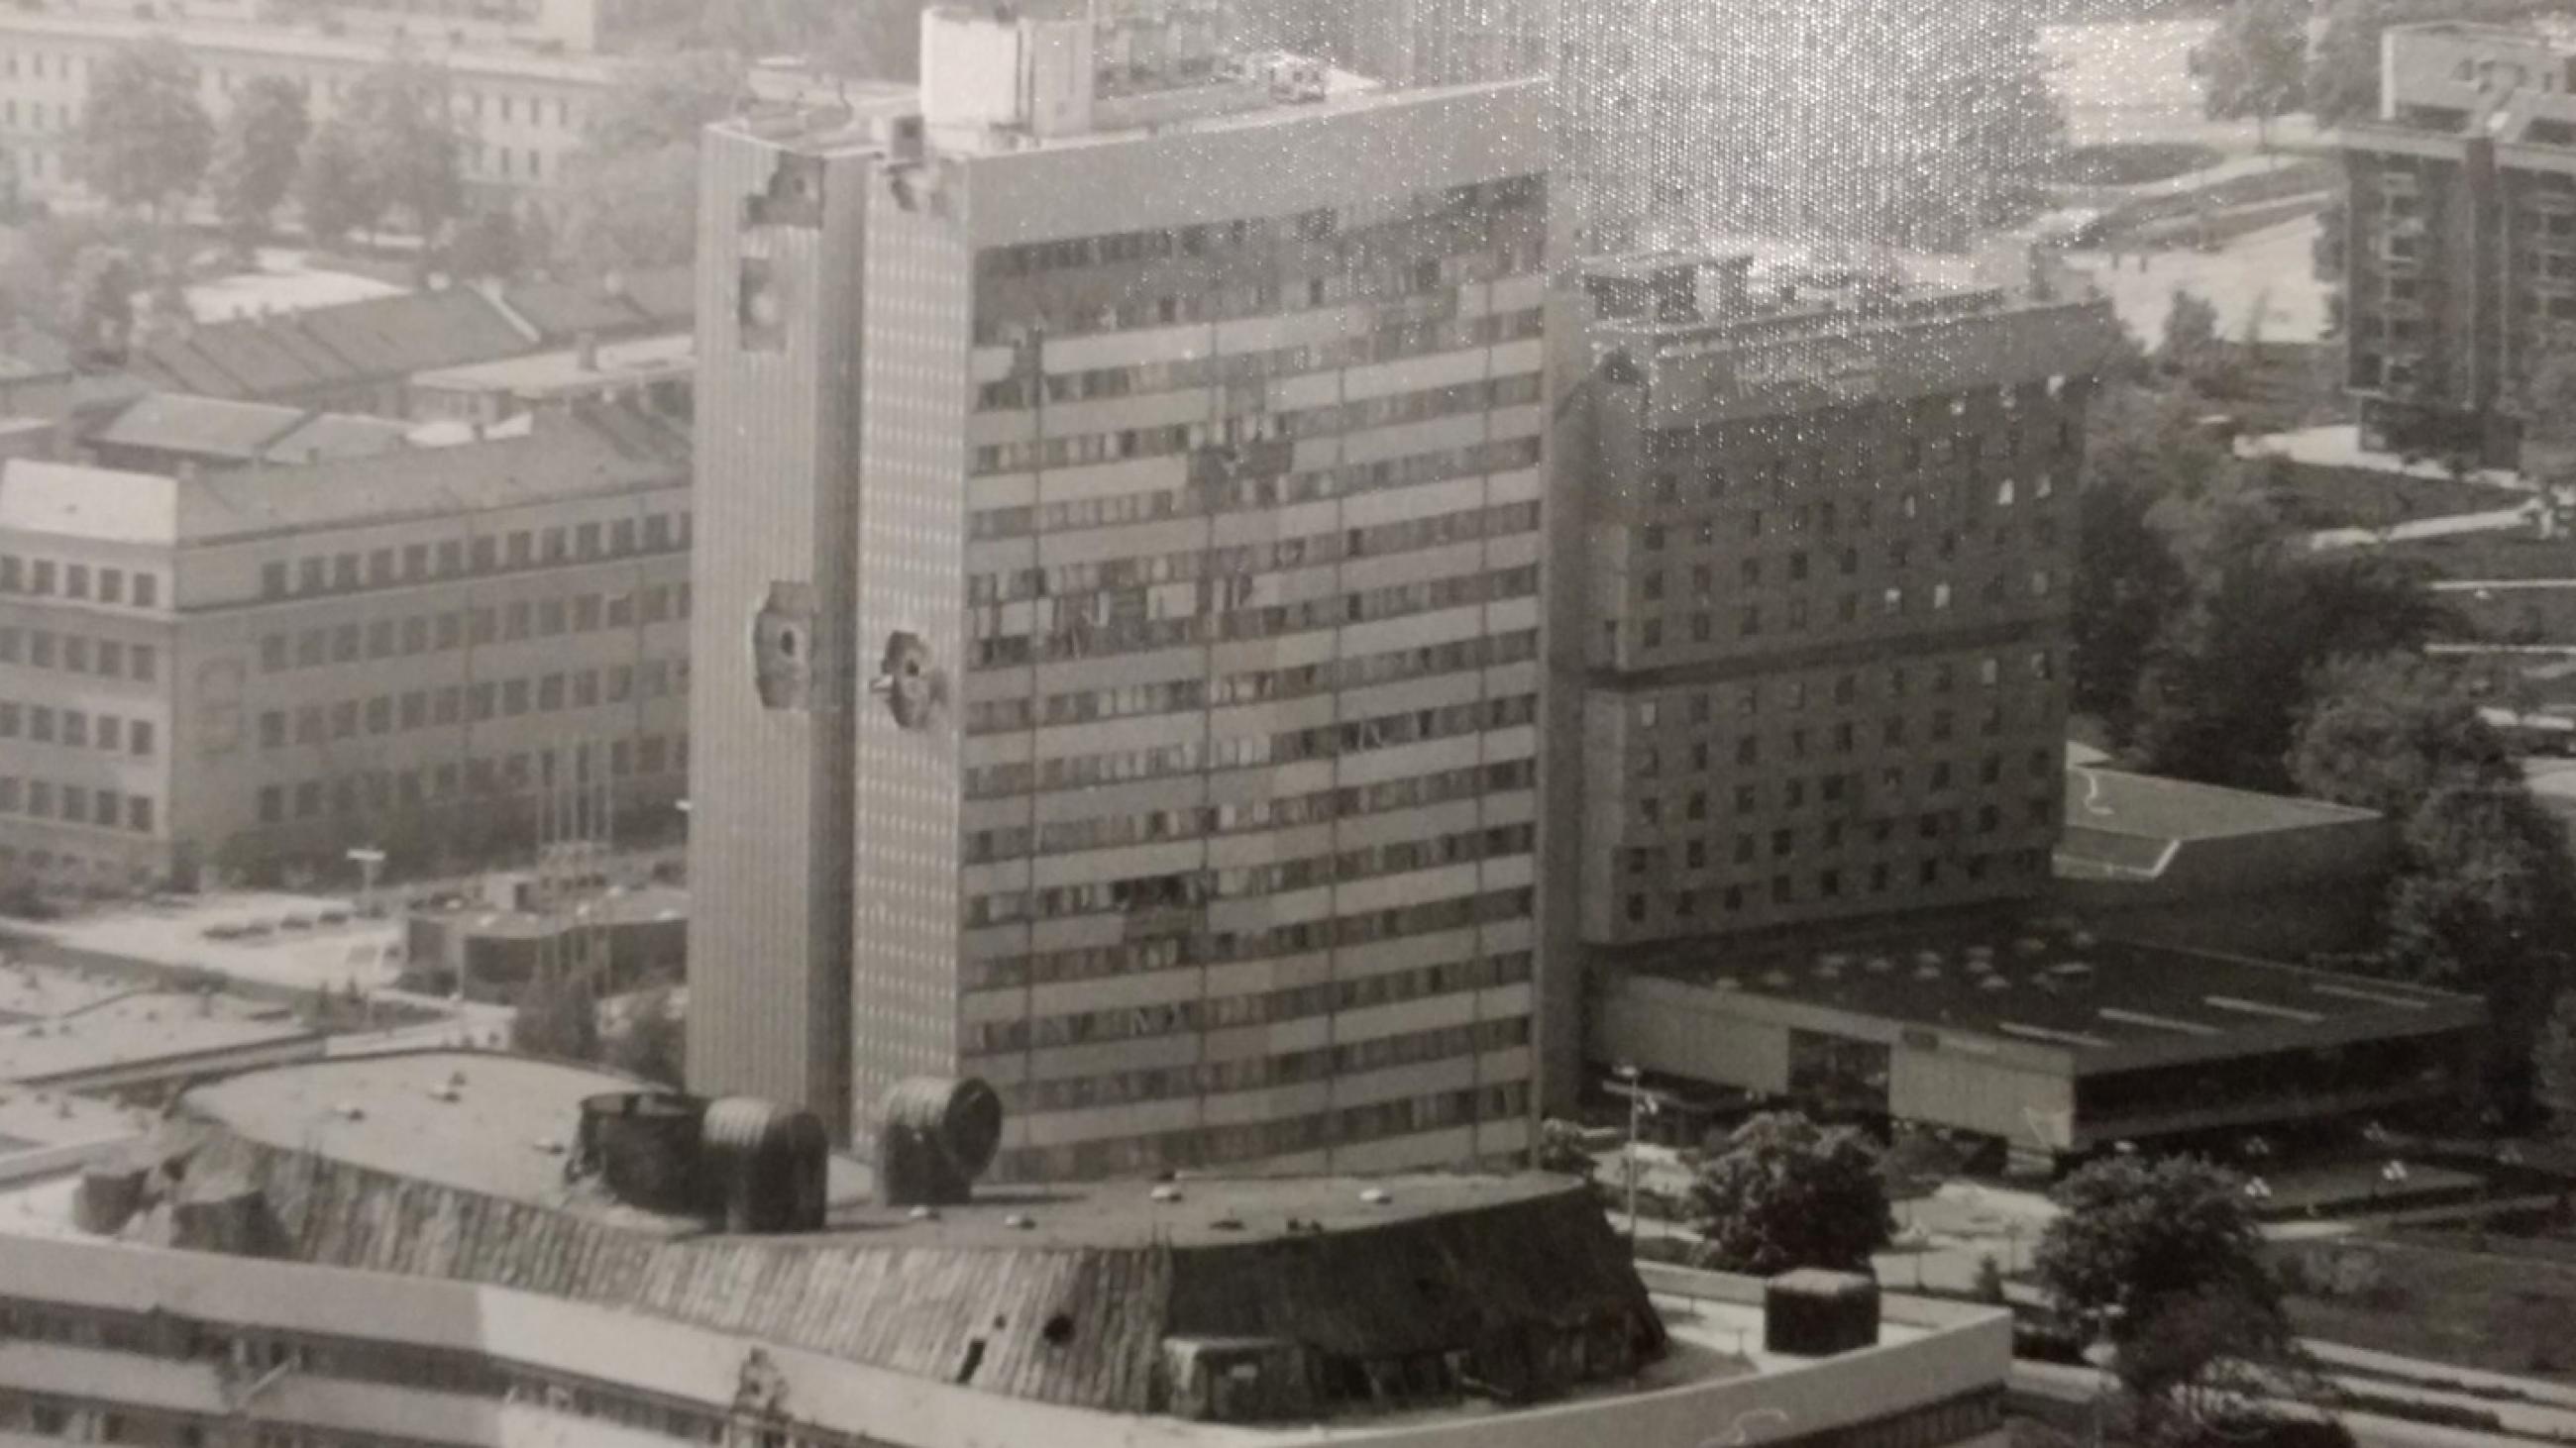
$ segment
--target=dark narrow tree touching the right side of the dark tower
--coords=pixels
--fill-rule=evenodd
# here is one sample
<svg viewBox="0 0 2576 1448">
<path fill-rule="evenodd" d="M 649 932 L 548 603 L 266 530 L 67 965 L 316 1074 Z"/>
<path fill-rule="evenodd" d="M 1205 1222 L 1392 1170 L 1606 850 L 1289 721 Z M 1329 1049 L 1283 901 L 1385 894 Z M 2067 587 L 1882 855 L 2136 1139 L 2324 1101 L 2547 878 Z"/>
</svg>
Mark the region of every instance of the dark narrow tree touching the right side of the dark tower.
<svg viewBox="0 0 2576 1448">
<path fill-rule="evenodd" d="M 2105 477 L 2076 500 L 2071 703 L 2105 721 L 2115 745 L 2130 737 L 2148 649 L 2190 595 L 2190 580 L 2164 533 L 2148 523 L 2156 497 Z"/>
</svg>

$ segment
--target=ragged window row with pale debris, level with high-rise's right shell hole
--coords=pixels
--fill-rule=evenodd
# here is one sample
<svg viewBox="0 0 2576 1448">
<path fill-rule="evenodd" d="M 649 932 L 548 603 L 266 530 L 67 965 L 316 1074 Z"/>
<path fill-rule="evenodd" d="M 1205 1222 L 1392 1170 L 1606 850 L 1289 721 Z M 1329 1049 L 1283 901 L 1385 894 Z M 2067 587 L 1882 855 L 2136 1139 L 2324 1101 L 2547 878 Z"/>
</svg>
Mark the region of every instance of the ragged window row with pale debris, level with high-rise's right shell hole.
<svg viewBox="0 0 2576 1448">
<path fill-rule="evenodd" d="M 1038 662 L 1092 660 L 1103 654 L 1128 654 L 1151 649 L 1185 649 L 1195 644 L 1231 644 L 1247 639 L 1278 639 L 1280 634 L 1314 634 L 1347 624 L 1376 624 L 1412 613 L 1437 613 L 1443 608 L 1471 608 L 1533 598 L 1538 593 L 1538 564 L 1363 587 L 1303 603 L 1273 603 L 1252 608 L 1242 595 L 1249 580 L 1234 585 L 1224 603 L 1206 603 L 1203 613 L 1180 618 L 1133 618 L 1110 613 L 1069 611 L 1066 624 L 1048 634 L 1002 634 L 999 608 L 971 611 L 976 667 L 1018 667 Z"/>
</svg>

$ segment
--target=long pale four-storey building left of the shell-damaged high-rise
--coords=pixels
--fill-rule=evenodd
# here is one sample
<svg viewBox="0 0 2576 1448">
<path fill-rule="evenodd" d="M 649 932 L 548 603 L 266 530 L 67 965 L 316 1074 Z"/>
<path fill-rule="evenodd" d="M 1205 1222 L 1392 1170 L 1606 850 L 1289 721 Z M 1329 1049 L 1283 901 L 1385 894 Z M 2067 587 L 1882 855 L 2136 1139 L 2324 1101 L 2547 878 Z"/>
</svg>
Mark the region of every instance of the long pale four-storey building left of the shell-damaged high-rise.
<svg viewBox="0 0 2576 1448">
<path fill-rule="evenodd" d="M 299 469 L 0 472 L 0 866 L 412 863 L 680 796 L 688 446 L 611 410 Z M 595 806 L 592 806 L 595 809 Z"/>
</svg>

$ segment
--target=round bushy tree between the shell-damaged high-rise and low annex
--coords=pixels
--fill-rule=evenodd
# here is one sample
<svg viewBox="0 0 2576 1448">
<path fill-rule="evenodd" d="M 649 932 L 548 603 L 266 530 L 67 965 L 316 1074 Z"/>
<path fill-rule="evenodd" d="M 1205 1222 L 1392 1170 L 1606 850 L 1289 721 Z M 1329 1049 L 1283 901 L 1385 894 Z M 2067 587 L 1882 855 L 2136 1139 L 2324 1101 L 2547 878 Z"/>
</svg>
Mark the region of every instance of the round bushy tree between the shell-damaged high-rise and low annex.
<svg viewBox="0 0 2576 1448">
<path fill-rule="evenodd" d="M 1754 1116 L 1700 1165 L 1690 1188 L 1703 1265 L 1775 1275 L 1790 1268 L 1868 1273 L 1888 1244 L 1888 1188 L 1878 1149 L 1847 1126 L 1795 1110 Z"/>
</svg>

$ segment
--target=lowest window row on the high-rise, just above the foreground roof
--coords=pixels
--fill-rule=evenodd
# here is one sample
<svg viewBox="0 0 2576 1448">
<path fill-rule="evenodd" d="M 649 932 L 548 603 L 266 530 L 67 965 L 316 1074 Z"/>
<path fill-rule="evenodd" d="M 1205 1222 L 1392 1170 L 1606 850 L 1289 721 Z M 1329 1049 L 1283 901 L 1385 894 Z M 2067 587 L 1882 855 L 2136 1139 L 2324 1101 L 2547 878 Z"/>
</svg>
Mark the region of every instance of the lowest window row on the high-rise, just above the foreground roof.
<svg viewBox="0 0 2576 1448">
<path fill-rule="evenodd" d="M 1164 1170 L 1203 1170 L 1231 1162 L 1260 1162 L 1324 1152 L 1327 1147 L 1358 1147 L 1394 1136 L 1419 1136 L 1425 1131 L 1450 1131 L 1481 1121 L 1528 1121 L 1528 1082 L 1453 1090 L 1342 1110 L 1319 1110 L 1283 1121 L 1252 1121 L 1242 1126 L 1193 1126 L 1154 1136 L 1105 1136 L 1097 1141 L 1066 1141 L 1061 1147 L 1023 1147 L 994 1159 L 1002 1180 L 1046 1177 L 1136 1177 Z"/>
</svg>

